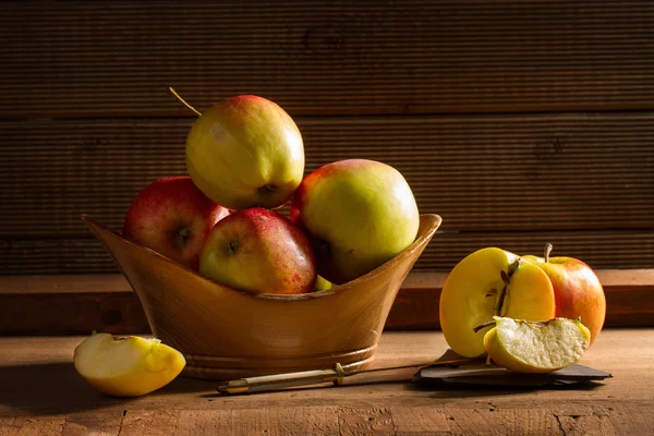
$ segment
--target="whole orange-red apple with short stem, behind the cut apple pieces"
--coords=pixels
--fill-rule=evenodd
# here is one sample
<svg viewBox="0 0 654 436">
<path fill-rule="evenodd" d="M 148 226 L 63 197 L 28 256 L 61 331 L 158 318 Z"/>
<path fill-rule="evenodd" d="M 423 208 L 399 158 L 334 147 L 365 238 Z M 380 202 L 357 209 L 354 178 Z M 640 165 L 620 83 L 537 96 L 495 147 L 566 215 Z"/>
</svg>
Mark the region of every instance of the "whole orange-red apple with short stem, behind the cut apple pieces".
<svg viewBox="0 0 654 436">
<path fill-rule="evenodd" d="M 606 316 L 606 298 L 600 279 L 585 263 L 573 257 L 549 257 L 552 244 L 545 256 L 523 256 L 540 266 L 552 281 L 556 301 L 556 316 L 576 319 L 591 330 L 591 343 L 597 338 Z"/>
</svg>

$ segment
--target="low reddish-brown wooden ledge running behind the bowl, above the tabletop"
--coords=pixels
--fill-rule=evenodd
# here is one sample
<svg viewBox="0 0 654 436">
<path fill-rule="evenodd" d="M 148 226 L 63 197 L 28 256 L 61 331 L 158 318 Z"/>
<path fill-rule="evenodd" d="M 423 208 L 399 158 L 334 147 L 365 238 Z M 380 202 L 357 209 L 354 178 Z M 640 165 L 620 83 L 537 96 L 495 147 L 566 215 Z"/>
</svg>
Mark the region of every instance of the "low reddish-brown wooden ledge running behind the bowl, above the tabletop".
<svg viewBox="0 0 654 436">
<path fill-rule="evenodd" d="M 654 269 L 597 270 L 607 301 L 606 326 L 654 327 Z M 386 329 L 437 329 L 447 272 L 410 272 Z M 85 335 L 150 331 L 137 295 L 122 275 L 0 277 L 0 335 Z"/>
</svg>

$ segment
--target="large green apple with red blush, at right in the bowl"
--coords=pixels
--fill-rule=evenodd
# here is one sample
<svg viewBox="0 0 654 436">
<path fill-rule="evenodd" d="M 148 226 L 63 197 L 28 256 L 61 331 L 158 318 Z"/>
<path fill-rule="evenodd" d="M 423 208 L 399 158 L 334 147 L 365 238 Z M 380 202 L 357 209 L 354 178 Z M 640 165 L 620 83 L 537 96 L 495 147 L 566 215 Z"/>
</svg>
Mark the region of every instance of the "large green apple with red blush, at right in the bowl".
<svg viewBox="0 0 654 436">
<path fill-rule="evenodd" d="M 409 247 L 420 223 L 402 174 L 366 159 L 331 162 L 304 178 L 290 218 L 308 235 L 318 274 L 335 284 L 361 277 Z"/>
</svg>

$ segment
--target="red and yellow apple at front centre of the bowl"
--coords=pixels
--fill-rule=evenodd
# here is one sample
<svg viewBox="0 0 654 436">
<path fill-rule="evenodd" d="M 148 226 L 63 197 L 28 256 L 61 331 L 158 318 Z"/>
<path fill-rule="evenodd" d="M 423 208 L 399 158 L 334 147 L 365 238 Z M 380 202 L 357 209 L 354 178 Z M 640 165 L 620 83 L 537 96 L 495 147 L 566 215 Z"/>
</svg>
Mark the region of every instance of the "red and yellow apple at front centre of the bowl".
<svg viewBox="0 0 654 436">
<path fill-rule="evenodd" d="M 300 228 L 278 213 L 252 207 L 214 227 L 199 274 L 241 291 L 295 294 L 314 290 L 316 263 Z"/>
</svg>

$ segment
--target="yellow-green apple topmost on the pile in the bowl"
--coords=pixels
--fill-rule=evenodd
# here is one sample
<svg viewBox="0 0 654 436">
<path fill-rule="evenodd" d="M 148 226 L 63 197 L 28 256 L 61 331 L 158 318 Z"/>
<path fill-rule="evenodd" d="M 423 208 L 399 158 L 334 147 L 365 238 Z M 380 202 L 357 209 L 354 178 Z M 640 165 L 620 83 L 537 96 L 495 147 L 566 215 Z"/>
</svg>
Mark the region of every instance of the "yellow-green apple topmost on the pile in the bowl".
<svg viewBox="0 0 654 436">
<path fill-rule="evenodd" d="M 202 192 L 229 209 L 276 208 L 302 181 L 302 135 L 274 101 L 239 95 L 210 107 L 193 123 L 186 168 Z"/>
</svg>

